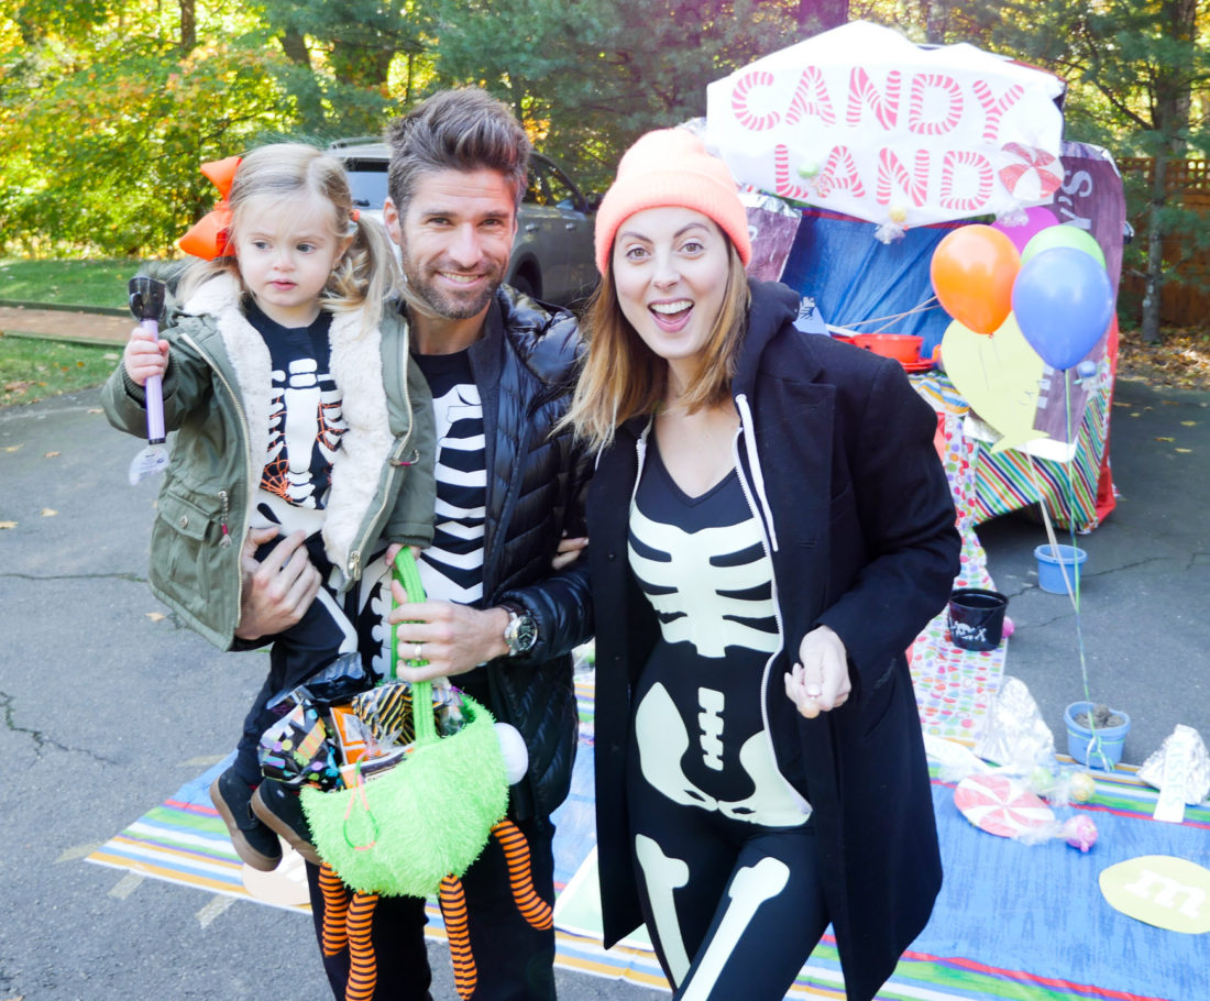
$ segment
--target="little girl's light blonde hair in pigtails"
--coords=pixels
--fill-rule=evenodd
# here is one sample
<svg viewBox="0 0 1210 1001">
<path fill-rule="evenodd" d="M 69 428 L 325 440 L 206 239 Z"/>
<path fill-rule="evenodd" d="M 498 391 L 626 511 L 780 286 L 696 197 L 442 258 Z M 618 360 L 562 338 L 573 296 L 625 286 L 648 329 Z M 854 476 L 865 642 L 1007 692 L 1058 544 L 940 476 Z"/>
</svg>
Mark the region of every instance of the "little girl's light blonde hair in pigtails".
<svg viewBox="0 0 1210 1001">
<path fill-rule="evenodd" d="M 253 200 L 286 200 L 307 194 L 332 205 L 338 238 L 353 238 L 323 287 L 321 307 L 334 313 L 364 309 L 362 332 L 378 327 L 382 301 L 398 286 L 394 253 L 382 226 L 373 219 L 353 218 L 353 196 L 340 160 L 304 143 L 260 146 L 240 161 L 227 197 L 231 206 L 227 248 L 231 253 L 212 261 L 191 261 L 182 277 L 180 298 L 188 299 L 198 286 L 219 274 L 240 278 L 234 246 Z"/>
</svg>

